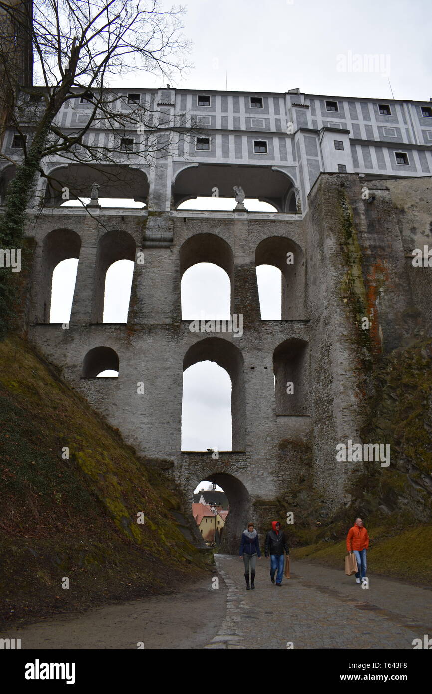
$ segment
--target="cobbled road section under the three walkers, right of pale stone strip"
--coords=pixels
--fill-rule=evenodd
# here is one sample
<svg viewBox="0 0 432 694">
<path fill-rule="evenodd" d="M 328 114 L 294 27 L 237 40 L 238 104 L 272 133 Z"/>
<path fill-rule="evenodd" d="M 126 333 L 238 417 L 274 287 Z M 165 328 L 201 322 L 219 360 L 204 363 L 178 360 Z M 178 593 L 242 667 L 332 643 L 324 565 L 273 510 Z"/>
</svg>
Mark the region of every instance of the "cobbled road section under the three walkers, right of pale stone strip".
<svg viewBox="0 0 432 694">
<path fill-rule="evenodd" d="M 291 579 L 270 582 L 270 562 L 257 561 L 254 591 L 245 590 L 243 561 L 216 555 L 228 586 L 227 615 L 205 648 L 413 648 L 432 635 L 432 591 L 369 576 L 369 589 L 354 577 L 296 561 Z M 290 646 L 291 647 L 291 646 Z"/>
</svg>

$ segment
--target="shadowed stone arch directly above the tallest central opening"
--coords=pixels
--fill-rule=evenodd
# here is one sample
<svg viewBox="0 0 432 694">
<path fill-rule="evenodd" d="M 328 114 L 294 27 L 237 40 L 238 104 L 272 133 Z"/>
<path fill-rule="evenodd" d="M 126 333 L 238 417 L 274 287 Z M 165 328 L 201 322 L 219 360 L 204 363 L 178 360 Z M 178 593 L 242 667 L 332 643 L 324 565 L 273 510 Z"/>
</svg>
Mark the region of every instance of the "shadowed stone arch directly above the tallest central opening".
<svg viewBox="0 0 432 694">
<path fill-rule="evenodd" d="M 230 307 L 232 312 L 234 302 L 234 253 L 230 244 L 216 234 L 195 234 L 182 244 L 179 253 L 180 260 L 180 301 L 181 280 L 189 267 L 199 262 L 211 262 L 221 267 L 227 273 L 231 283 Z M 198 317 L 198 316 L 197 316 Z"/>
</svg>

